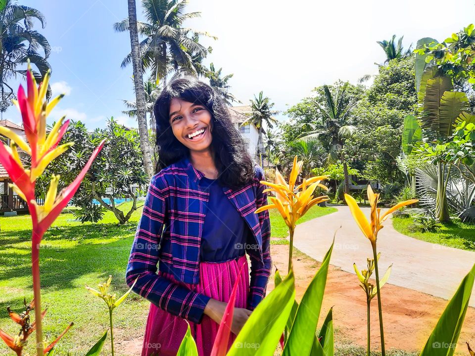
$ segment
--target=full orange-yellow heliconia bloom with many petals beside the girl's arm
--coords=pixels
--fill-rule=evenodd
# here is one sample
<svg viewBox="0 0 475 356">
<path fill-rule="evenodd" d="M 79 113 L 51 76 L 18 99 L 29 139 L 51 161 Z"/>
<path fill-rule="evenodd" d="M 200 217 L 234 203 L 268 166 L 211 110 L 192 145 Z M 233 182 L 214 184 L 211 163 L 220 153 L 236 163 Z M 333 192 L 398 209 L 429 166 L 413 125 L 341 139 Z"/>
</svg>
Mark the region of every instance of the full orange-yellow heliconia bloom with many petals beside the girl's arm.
<svg viewBox="0 0 475 356">
<path fill-rule="evenodd" d="M 288 183 L 277 168 L 275 183 L 265 180 L 260 181 L 262 184 L 269 186 L 269 188 L 264 189 L 264 192 L 273 191 L 276 196 L 269 196 L 272 204 L 260 207 L 255 211 L 256 214 L 264 210 L 276 208 L 282 215 L 285 224 L 289 228 L 294 229 L 297 220 L 304 216 L 312 206 L 328 200 L 327 195 L 313 198 L 313 193 L 317 187 L 328 190 L 327 186 L 321 183 L 328 176 L 304 178 L 302 184 L 295 187 L 295 181 L 302 171 L 302 166 L 303 161 L 297 161 L 297 156 L 295 156 Z"/>
</svg>

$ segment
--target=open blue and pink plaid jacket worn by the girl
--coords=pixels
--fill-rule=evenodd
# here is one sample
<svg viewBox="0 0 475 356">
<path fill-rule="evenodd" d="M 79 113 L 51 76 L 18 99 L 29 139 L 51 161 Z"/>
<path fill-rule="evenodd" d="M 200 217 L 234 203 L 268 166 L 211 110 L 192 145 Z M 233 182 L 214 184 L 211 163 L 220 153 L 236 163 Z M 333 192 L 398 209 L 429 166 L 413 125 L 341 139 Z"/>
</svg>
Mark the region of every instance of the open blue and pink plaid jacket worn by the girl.
<svg viewBox="0 0 475 356">
<path fill-rule="evenodd" d="M 254 244 L 246 249 L 251 260 L 247 309 L 253 310 L 266 294 L 271 274 L 269 212 L 254 211 L 267 204 L 266 188 L 259 180 L 264 172 L 239 189 L 223 187 L 228 199 L 245 220 Z M 162 169 L 150 181 L 142 217 L 137 227 L 127 266 L 126 281 L 133 291 L 158 307 L 192 322 L 200 323 L 210 297 L 191 291 L 157 275 L 158 269 L 184 283 L 199 283 L 199 249 L 209 193 L 198 182 L 204 174 L 185 157 Z M 165 226 L 165 228 L 163 228 Z"/>
</svg>

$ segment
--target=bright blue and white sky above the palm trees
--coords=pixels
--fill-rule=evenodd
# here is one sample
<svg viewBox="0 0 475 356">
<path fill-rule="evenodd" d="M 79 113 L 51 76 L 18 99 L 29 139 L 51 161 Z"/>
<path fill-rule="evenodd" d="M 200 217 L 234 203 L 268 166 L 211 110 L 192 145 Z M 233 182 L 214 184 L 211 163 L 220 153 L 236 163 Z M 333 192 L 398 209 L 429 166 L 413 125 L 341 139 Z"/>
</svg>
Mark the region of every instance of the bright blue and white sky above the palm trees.
<svg viewBox="0 0 475 356">
<path fill-rule="evenodd" d="M 44 1 L 20 0 L 40 10 L 46 26 L 35 29 L 52 47 L 53 94 L 66 96 L 51 112 L 51 123 L 66 115 L 81 120 L 89 129 L 103 128 L 113 116 L 137 127 L 122 113 L 122 100 L 135 101 L 132 66 L 121 68 L 130 52 L 129 33 L 116 33 L 113 24 L 128 16 L 125 0 Z M 139 20 L 143 20 L 137 1 Z M 377 41 L 393 34 L 404 36 L 403 45 L 432 37 L 443 41 L 474 22 L 475 2 L 354 1 L 354 0 L 190 0 L 186 12 L 201 12 L 186 27 L 206 31 L 217 40 L 202 38 L 213 51 L 205 64 L 234 74 L 231 92 L 243 104 L 263 90 L 275 103 L 277 115 L 312 89 L 337 80 L 356 84 L 365 74 L 376 74 L 385 54 Z M 20 82 L 15 83 L 15 88 Z M 241 105 L 235 103 L 235 105 Z M 4 119 L 19 123 L 14 106 Z"/>
</svg>

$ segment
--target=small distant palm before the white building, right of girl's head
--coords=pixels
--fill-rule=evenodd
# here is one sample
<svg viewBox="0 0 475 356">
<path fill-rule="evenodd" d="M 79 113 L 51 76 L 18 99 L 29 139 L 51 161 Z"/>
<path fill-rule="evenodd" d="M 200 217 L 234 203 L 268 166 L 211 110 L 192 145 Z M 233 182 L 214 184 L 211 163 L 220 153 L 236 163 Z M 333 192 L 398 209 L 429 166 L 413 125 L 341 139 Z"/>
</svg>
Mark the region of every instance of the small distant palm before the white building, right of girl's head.
<svg viewBox="0 0 475 356">
<path fill-rule="evenodd" d="M 251 112 L 245 113 L 245 115 L 249 116 L 249 119 L 245 120 L 241 123 L 241 126 L 245 126 L 247 124 L 254 124 L 258 130 L 258 137 L 257 137 L 257 154 L 260 157 L 261 166 L 264 166 L 264 161 L 262 158 L 262 125 L 265 123 L 267 128 L 272 129 L 274 128 L 274 124 L 277 124 L 277 120 L 272 117 L 272 115 L 276 115 L 279 113 L 277 110 L 271 110 L 274 106 L 274 103 L 270 102 L 270 99 L 267 96 L 264 96 L 263 92 L 259 92 L 259 97 L 254 95 L 254 100 L 249 100 L 251 105 Z M 261 148 L 262 147 L 262 148 Z"/>
</svg>

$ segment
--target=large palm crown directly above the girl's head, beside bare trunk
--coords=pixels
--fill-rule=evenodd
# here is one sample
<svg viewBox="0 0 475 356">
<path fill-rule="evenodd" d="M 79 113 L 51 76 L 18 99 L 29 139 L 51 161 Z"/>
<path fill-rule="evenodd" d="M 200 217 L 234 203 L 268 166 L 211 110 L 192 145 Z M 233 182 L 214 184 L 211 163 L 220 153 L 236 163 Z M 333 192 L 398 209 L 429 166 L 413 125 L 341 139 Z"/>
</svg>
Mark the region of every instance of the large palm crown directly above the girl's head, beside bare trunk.
<svg viewBox="0 0 475 356">
<path fill-rule="evenodd" d="M 155 81 L 164 80 L 171 71 L 181 68 L 197 75 L 193 56 L 206 56 L 209 48 L 198 43 L 197 36 L 210 36 L 206 32 L 183 27 L 185 20 L 200 16 L 200 12 L 184 13 L 186 0 L 142 0 L 147 22 L 137 22 L 139 34 L 145 39 L 139 45 L 142 69 L 151 69 Z M 126 18 L 114 24 L 117 32 L 128 31 Z M 122 61 L 122 68 L 132 62 L 132 53 Z"/>
</svg>

